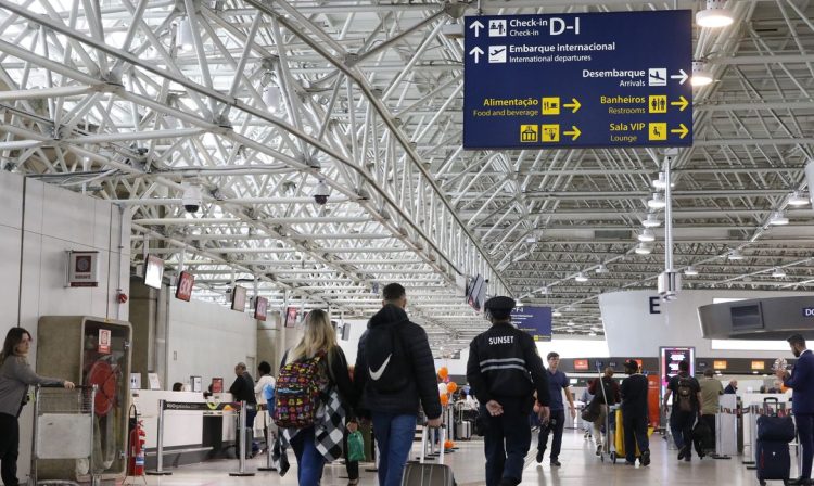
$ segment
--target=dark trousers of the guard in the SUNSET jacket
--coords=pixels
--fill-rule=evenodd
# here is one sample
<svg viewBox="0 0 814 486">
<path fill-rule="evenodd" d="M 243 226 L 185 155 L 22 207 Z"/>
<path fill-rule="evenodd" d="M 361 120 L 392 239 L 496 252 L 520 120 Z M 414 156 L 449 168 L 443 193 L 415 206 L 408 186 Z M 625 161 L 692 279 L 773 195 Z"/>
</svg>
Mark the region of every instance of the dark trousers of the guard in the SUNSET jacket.
<svg viewBox="0 0 814 486">
<path fill-rule="evenodd" d="M 492 417 L 486 407 L 481 407 L 481 417 L 486 420 L 483 436 L 486 452 L 486 486 L 504 483 L 520 484 L 523 476 L 523 461 L 532 445 L 532 431 L 529 417 L 521 412 L 520 404 L 500 400 L 504 414 Z"/>
</svg>

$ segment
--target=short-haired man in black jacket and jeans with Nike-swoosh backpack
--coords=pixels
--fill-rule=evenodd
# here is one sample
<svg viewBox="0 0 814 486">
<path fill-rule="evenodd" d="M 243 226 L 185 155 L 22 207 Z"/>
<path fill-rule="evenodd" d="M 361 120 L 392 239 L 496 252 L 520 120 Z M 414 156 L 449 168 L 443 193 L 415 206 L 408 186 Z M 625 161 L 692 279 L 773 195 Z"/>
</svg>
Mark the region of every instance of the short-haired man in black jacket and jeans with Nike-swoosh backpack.
<svg viewBox="0 0 814 486">
<path fill-rule="evenodd" d="M 359 340 L 354 368 L 363 413 L 372 414 L 379 445 L 379 486 L 399 486 L 412 448 L 419 406 L 428 425 L 441 426 L 435 362 L 427 332 L 410 322 L 404 286 L 383 289 L 383 307 Z"/>
</svg>

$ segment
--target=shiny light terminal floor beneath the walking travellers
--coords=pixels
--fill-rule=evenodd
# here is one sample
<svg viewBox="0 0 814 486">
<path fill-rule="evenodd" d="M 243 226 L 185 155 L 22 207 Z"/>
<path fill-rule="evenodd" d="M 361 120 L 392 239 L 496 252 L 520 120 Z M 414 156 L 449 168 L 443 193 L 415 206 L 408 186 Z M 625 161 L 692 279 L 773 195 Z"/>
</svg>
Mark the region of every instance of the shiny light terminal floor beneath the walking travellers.
<svg viewBox="0 0 814 486">
<path fill-rule="evenodd" d="M 536 434 L 535 434 L 536 439 Z M 534 443 L 536 444 L 536 443 Z M 652 463 L 648 468 L 624 465 L 620 460 L 611 464 L 607 458 L 606 462 L 599 462 L 594 455 L 595 445 L 586 442 L 581 432 L 565 431 L 563 437 L 562 453 L 560 455 L 561 468 L 551 468 L 548 457 L 543 464 L 534 461 L 536 449 L 532 446 L 526 458 L 526 468 L 523 472 L 523 486 L 575 486 L 575 485 L 756 485 L 754 471 L 747 470 L 741 463 L 742 458 L 732 460 L 698 460 L 694 457 L 691 462 L 677 461 L 677 452 L 669 449 L 662 436 L 652 436 Z M 445 462 L 455 471 L 455 478 L 459 486 L 485 485 L 483 479 L 483 443 L 481 440 L 460 442 L 457 451 L 445 456 Z M 418 448 L 414 449 L 416 452 Z M 417 452 L 416 452 L 417 453 Z M 173 470 L 171 476 L 148 476 L 147 483 L 141 478 L 128 478 L 128 484 L 148 484 L 162 486 L 294 486 L 296 485 L 296 461 L 290 453 L 291 470 L 284 477 L 277 472 L 258 471 L 253 477 L 230 477 L 229 472 L 236 471 L 238 461 L 220 460 L 209 461 L 203 464 L 180 466 Z M 796 477 L 796 457 L 792 452 L 792 477 Z M 266 457 L 262 455 L 246 461 L 246 470 L 255 471 L 256 468 L 265 465 Z M 360 464 L 361 477 L 359 484 L 363 486 L 376 486 L 376 473 L 365 471 L 372 464 Z M 326 466 L 322 486 L 344 486 L 347 484 L 345 468 L 341 463 Z M 781 485 L 780 482 L 768 482 L 770 485 Z"/>
</svg>

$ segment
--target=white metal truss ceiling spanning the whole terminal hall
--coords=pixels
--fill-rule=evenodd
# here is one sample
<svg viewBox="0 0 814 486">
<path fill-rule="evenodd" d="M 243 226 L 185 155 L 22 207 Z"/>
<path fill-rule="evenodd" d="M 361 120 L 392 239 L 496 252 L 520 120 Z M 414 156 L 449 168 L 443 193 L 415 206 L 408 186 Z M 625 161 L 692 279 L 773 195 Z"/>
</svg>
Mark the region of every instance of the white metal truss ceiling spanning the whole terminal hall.
<svg viewBox="0 0 814 486">
<path fill-rule="evenodd" d="M 695 33 L 717 81 L 671 166 L 675 261 L 694 289 L 807 289 L 812 210 L 788 202 L 813 155 L 814 7 L 729 3 L 733 26 Z M 481 273 L 562 310 L 555 332 L 601 334 L 596 297 L 663 270 L 658 228 L 634 252 L 663 154 L 463 151 L 462 40 L 442 28 L 676 7 L 700 2 L 0 0 L 0 166 L 130 210 L 135 259 L 191 269 L 201 298 L 243 283 L 361 317 L 398 281 L 454 350 L 485 327 L 456 282 Z M 194 215 L 187 184 L 203 188 Z"/>
</svg>

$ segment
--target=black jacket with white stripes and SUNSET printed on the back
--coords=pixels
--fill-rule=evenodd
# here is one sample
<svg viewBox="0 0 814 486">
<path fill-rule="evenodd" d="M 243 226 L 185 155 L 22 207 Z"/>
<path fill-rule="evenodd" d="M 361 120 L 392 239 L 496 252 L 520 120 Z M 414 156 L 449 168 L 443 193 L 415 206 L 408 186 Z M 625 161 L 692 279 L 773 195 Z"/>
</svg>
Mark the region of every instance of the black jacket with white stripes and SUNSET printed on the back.
<svg viewBox="0 0 814 486">
<path fill-rule="evenodd" d="M 472 340 L 467 381 L 482 405 L 501 398 L 531 402 L 535 391 L 540 405 L 550 401 L 548 373 L 534 338 L 508 322 L 493 324 Z"/>
</svg>

